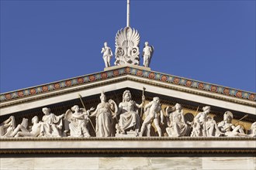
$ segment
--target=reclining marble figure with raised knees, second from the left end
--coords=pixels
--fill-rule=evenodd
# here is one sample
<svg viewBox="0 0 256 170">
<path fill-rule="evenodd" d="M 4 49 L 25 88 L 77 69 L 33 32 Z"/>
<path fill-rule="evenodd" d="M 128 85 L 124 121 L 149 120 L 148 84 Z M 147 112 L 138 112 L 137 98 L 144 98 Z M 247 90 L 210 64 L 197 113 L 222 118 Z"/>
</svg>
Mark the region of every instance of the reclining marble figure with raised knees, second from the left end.
<svg viewBox="0 0 256 170">
<path fill-rule="evenodd" d="M 41 122 L 38 122 L 39 119 L 37 116 L 32 118 L 32 128 L 29 131 L 27 127 L 27 119 L 23 118 L 22 124 L 19 124 L 16 129 L 13 131 L 12 136 L 14 137 L 40 137 L 42 134 L 41 131 Z"/>
</svg>

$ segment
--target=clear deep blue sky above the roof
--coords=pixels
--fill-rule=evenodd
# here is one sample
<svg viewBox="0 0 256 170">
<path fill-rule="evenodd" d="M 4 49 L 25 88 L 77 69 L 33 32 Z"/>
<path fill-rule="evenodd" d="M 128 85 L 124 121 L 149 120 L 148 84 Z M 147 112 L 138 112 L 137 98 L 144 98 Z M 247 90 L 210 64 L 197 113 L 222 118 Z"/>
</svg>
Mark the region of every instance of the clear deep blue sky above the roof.
<svg viewBox="0 0 256 170">
<path fill-rule="evenodd" d="M 255 92 L 255 1 L 131 0 L 151 70 Z M 1 1 L 1 93 L 104 69 L 123 1 Z M 112 58 L 112 64 L 114 59 Z"/>
</svg>

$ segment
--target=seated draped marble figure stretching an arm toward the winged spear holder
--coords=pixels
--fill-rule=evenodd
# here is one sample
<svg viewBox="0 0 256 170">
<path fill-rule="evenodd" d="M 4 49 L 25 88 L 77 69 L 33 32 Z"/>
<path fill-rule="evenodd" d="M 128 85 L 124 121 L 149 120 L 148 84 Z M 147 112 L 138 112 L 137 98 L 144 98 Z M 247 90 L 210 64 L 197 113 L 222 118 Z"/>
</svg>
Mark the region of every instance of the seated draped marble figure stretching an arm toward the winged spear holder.
<svg viewBox="0 0 256 170">
<path fill-rule="evenodd" d="M 61 137 L 62 118 L 64 114 L 56 116 L 50 113 L 50 108 L 43 107 L 44 116 L 42 117 L 41 133 L 45 137 Z"/>
</svg>

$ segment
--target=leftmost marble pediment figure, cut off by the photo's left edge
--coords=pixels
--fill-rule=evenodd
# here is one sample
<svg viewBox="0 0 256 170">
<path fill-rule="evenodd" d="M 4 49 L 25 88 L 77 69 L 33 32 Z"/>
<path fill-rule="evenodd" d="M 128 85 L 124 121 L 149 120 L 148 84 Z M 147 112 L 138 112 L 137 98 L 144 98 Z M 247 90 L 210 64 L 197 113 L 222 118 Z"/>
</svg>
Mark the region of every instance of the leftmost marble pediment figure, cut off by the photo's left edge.
<svg viewBox="0 0 256 170">
<path fill-rule="evenodd" d="M 15 127 L 15 117 L 11 116 L 0 124 L 0 137 L 11 137 Z"/>
</svg>

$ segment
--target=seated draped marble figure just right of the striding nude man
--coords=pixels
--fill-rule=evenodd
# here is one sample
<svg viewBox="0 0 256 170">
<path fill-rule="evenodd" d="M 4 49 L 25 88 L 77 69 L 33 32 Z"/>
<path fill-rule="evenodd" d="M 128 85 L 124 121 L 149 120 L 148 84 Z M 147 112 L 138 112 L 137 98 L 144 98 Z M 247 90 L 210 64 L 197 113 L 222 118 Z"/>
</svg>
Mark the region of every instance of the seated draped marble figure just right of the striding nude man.
<svg viewBox="0 0 256 170">
<path fill-rule="evenodd" d="M 171 111 L 171 114 L 169 112 Z M 166 128 L 166 132 L 170 137 L 181 137 L 185 136 L 188 125 L 185 124 L 182 105 L 175 104 L 175 107 L 166 108 L 166 114 L 169 117 L 168 119 L 168 128 Z"/>
</svg>

